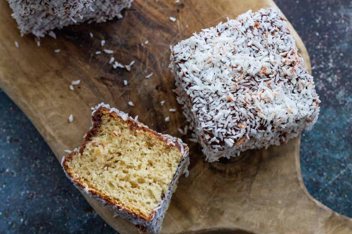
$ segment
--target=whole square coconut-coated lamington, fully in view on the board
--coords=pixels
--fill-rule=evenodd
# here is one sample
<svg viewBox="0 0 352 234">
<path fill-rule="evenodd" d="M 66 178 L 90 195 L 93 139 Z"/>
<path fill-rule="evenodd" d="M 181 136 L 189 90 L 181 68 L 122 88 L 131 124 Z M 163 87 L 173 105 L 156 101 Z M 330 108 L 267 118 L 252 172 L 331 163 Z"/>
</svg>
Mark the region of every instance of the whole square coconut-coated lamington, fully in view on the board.
<svg viewBox="0 0 352 234">
<path fill-rule="evenodd" d="M 220 22 L 172 49 L 178 102 L 208 161 L 312 128 L 320 100 L 303 62 L 275 8 Z"/>
</svg>

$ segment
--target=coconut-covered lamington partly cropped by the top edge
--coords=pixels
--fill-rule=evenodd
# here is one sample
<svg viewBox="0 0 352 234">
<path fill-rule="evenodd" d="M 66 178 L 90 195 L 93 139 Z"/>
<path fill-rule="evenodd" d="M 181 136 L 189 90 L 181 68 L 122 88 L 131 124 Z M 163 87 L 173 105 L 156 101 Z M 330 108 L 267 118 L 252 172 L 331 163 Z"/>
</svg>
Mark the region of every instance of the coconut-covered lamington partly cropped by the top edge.
<svg viewBox="0 0 352 234">
<path fill-rule="evenodd" d="M 7 0 L 21 34 L 44 37 L 52 29 L 83 21 L 105 22 L 122 18 L 133 0 Z"/>
</svg>

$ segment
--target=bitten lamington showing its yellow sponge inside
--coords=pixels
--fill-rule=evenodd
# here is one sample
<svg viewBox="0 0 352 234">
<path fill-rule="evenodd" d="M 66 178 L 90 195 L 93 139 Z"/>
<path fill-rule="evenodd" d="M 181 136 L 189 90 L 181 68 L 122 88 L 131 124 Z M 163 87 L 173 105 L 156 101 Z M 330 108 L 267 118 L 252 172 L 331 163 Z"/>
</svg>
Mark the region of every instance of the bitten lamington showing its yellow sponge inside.
<svg viewBox="0 0 352 234">
<path fill-rule="evenodd" d="M 188 173 L 188 147 L 109 105 L 93 109 L 83 145 L 62 159 L 67 177 L 136 225 L 158 232 L 178 178 Z"/>
</svg>

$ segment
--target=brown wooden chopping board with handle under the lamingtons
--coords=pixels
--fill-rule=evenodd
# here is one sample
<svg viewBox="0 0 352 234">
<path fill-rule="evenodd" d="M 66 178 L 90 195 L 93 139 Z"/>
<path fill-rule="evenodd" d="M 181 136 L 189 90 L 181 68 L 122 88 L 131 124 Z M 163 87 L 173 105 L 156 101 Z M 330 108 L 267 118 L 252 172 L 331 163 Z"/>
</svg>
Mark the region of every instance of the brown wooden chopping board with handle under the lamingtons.
<svg viewBox="0 0 352 234">
<path fill-rule="evenodd" d="M 82 24 L 55 31 L 37 47 L 33 36 L 20 37 L 11 9 L 0 1 L 0 86 L 24 111 L 60 160 L 64 149 L 80 146 L 90 126 L 90 107 L 110 103 L 158 132 L 181 136 L 187 123 L 172 92 L 168 69 L 170 45 L 201 28 L 215 26 L 249 9 L 277 7 L 272 0 L 135 0 L 122 20 Z M 169 16 L 175 17 L 171 22 Z M 310 70 L 303 42 L 291 27 Z M 90 38 L 89 32 L 94 34 Z M 100 41 L 106 40 L 104 47 Z M 149 40 L 149 44 L 141 43 Z M 14 41 L 18 41 L 16 48 Z M 113 69 L 114 50 L 131 72 Z M 60 53 L 55 53 L 60 49 Z M 145 76 L 153 72 L 146 79 Z M 71 91 L 72 80 L 81 80 Z M 124 86 L 123 80 L 128 81 Z M 165 100 L 164 106 L 160 101 Z M 128 106 L 133 101 L 135 106 Z M 170 113 L 169 108 L 176 108 Z M 68 116 L 74 121 L 69 123 Z M 164 118 L 170 116 L 170 122 Z M 314 130 L 313 130 L 314 131 Z M 249 151 L 232 160 L 207 163 L 200 146 L 190 143 L 188 178 L 182 177 L 163 223 L 162 233 L 352 233 L 352 220 L 310 196 L 303 185 L 300 137 L 279 147 Z M 85 196 L 105 221 L 121 234 L 137 233 L 126 220 L 113 218 Z"/>
</svg>

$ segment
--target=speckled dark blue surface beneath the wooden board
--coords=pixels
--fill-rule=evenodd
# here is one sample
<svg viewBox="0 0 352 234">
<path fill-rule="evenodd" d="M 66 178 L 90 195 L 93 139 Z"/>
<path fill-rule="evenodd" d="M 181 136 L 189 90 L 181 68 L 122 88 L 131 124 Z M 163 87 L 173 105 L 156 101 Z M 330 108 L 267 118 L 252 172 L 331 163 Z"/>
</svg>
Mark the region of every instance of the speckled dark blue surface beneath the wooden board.
<svg viewBox="0 0 352 234">
<path fill-rule="evenodd" d="M 352 218 L 352 3 L 276 3 L 306 44 L 322 100 L 313 131 L 302 135 L 304 183 L 316 199 Z M 115 233 L 1 90 L 0 113 L 0 233 Z"/>
</svg>

